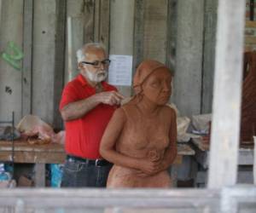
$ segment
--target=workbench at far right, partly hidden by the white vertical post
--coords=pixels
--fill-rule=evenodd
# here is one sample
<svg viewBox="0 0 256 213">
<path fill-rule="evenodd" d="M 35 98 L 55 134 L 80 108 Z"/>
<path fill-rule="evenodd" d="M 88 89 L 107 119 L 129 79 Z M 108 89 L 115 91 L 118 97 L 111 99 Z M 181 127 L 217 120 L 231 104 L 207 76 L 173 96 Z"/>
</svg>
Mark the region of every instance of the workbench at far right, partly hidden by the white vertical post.
<svg viewBox="0 0 256 213">
<path fill-rule="evenodd" d="M 191 139 L 195 145 L 195 160 L 201 165 L 202 170 L 197 172 L 197 182 L 205 184 L 207 182 L 207 171 L 210 161 L 210 144 L 204 143 L 201 138 Z M 239 148 L 238 163 L 239 166 L 253 167 L 253 145 L 241 145 Z M 239 171 L 238 182 L 253 182 L 253 173 L 251 171 Z"/>
</svg>

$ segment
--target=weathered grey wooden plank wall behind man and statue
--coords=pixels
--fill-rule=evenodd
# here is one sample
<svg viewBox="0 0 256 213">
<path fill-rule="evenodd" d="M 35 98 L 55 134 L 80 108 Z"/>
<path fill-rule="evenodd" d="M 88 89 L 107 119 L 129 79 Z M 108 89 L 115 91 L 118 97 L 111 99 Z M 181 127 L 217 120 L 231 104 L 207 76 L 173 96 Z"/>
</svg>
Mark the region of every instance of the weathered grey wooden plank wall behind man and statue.
<svg viewBox="0 0 256 213">
<path fill-rule="evenodd" d="M 20 70 L 0 58 L 0 120 L 12 111 L 16 122 L 33 113 L 60 128 L 61 89 L 78 73 L 75 53 L 87 42 L 104 43 L 112 55 L 133 55 L 133 72 L 143 59 L 166 63 L 175 72 L 172 102 L 181 113 L 211 111 L 217 0 L 1 2 L 0 52 L 15 42 L 24 57 L 14 60 Z M 119 90 L 132 93 L 129 86 Z"/>
</svg>

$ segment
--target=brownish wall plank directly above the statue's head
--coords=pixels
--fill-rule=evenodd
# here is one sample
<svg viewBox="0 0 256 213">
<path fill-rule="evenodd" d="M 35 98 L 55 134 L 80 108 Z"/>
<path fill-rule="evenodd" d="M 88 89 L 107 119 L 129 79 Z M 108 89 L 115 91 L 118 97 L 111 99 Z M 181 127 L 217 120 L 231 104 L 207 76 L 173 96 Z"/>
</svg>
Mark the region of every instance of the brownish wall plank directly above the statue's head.
<svg viewBox="0 0 256 213">
<path fill-rule="evenodd" d="M 166 62 L 167 0 L 144 1 L 143 58 Z"/>
</svg>

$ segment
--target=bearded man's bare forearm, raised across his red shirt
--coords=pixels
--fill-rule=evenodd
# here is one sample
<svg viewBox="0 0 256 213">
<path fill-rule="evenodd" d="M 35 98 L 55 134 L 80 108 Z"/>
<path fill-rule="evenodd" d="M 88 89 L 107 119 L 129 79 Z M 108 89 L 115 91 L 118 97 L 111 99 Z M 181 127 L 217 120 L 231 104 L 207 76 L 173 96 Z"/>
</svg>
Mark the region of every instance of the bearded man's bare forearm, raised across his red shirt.
<svg viewBox="0 0 256 213">
<path fill-rule="evenodd" d="M 69 103 L 61 109 L 61 117 L 65 121 L 81 118 L 91 109 L 95 108 L 99 103 L 100 101 L 96 95 L 92 95 L 81 101 Z"/>
</svg>

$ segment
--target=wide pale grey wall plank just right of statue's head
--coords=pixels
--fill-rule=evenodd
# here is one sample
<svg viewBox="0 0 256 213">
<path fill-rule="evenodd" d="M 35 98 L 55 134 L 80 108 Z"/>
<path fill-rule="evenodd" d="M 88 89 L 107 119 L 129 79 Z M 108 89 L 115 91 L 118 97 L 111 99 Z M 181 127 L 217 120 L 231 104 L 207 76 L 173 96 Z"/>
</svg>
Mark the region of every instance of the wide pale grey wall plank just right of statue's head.
<svg viewBox="0 0 256 213">
<path fill-rule="evenodd" d="M 204 1 L 177 1 L 177 54 L 174 103 L 182 115 L 201 112 Z"/>
</svg>

